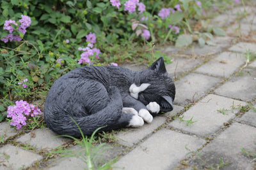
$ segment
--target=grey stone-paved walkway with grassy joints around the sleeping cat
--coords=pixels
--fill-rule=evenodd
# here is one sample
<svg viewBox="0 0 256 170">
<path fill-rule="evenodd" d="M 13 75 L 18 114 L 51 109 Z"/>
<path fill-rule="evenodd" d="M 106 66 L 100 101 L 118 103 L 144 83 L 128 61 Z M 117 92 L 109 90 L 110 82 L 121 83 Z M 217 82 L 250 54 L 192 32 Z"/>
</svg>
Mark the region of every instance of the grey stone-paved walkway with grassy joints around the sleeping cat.
<svg viewBox="0 0 256 170">
<path fill-rule="evenodd" d="M 248 17 L 237 20 L 244 9 Z M 234 8 L 211 24 L 227 32 L 214 37 L 216 46 L 163 49 L 173 60 L 166 67 L 175 77 L 174 110 L 141 128 L 107 134 L 106 140 L 113 134 L 117 141 L 112 139 L 112 148 L 100 158 L 108 161 L 118 156 L 114 166 L 132 170 L 256 168 L 256 60 L 247 63 L 245 57 L 246 52 L 256 53 L 255 8 Z M 5 141 L 0 147 L 0 169 L 86 167 L 76 157 L 52 153 L 66 145 L 67 138 L 52 138 L 56 134 L 49 129 L 17 135 L 1 122 L 0 136 Z"/>
</svg>

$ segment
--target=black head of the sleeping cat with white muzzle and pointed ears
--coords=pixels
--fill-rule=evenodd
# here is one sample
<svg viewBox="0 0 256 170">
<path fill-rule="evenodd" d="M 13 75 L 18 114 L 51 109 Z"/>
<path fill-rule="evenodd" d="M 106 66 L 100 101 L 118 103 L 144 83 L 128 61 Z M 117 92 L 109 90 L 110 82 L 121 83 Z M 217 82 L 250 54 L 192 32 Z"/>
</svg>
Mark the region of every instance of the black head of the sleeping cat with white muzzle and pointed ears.
<svg viewBox="0 0 256 170">
<path fill-rule="evenodd" d="M 163 57 L 157 59 L 148 69 L 141 71 L 134 78 L 134 84 L 129 90 L 131 96 L 145 106 L 150 102 L 156 102 L 160 106 L 160 111 L 173 110 L 175 85 L 166 71 Z"/>
</svg>

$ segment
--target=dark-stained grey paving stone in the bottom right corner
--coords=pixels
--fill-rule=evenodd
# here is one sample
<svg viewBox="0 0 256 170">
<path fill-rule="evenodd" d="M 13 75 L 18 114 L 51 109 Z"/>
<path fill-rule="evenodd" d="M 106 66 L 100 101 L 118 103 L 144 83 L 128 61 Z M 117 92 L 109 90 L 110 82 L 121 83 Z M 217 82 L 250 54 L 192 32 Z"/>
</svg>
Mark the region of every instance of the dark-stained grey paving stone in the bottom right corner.
<svg viewBox="0 0 256 170">
<path fill-rule="evenodd" d="M 241 151 L 241 148 L 244 148 L 246 151 L 255 153 L 255 136 L 254 127 L 234 123 L 202 149 L 200 158 L 207 162 L 208 168 L 211 164 L 216 168 L 216 164 L 220 164 L 222 159 L 230 165 L 223 166 L 221 169 L 255 169 L 253 158 L 246 157 Z M 204 169 L 202 160 L 195 159 L 191 164 L 197 169 Z"/>
</svg>

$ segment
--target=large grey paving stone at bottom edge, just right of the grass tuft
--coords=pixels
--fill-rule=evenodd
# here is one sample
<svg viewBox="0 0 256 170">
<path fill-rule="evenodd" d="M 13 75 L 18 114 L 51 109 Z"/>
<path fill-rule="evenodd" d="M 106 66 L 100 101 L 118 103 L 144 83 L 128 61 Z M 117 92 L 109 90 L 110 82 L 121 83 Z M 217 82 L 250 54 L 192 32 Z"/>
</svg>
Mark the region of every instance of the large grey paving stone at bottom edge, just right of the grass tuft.
<svg viewBox="0 0 256 170">
<path fill-rule="evenodd" d="M 172 169 L 179 164 L 181 159 L 186 158 L 188 153 L 186 147 L 196 150 L 204 143 L 204 139 L 161 129 L 113 166 L 134 170 Z"/>
</svg>

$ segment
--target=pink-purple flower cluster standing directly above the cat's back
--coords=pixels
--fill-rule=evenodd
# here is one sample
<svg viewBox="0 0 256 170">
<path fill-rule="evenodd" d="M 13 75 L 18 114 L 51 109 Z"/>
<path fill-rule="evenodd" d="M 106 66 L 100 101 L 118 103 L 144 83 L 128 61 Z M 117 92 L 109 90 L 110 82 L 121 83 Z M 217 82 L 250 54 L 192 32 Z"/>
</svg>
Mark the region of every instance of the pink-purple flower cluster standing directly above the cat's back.
<svg viewBox="0 0 256 170">
<path fill-rule="evenodd" d="M 99 59 L 99 54 L 101 53 L 98 48 L 93 48 L 93 44 L 96 43 L 96 35 L 90 32 L 86 36 L 86 41 L 89 42 L 86 48 L 79 47 L 78 50 L 83 51 L 81 53 L 81 59 L 78 60 L 78 64 L 83 64 L 84 62 L 87 62 L 89 65 L 91 65 L 90 57 L 95 57 Z"/>
</svg>

